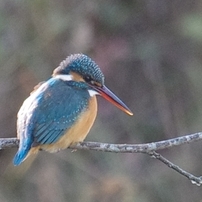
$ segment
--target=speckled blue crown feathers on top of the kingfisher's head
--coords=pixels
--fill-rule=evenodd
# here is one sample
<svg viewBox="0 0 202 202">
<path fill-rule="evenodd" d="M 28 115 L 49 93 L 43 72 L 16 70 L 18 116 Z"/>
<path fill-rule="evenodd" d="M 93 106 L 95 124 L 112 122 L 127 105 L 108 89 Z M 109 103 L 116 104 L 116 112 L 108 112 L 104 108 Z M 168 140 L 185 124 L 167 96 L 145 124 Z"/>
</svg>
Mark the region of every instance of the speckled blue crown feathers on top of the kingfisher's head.
<svg viewBox="0 0 202 202">
<path fill-rule="evenodd" d="M 53 76 L 75 72 L 83 78 L 90 77 L 93 81 L 104 85 L 104 75 L 98 65 L 84 54 L 73 54 L 63 60 L 54 70 Z"/>
</svg>

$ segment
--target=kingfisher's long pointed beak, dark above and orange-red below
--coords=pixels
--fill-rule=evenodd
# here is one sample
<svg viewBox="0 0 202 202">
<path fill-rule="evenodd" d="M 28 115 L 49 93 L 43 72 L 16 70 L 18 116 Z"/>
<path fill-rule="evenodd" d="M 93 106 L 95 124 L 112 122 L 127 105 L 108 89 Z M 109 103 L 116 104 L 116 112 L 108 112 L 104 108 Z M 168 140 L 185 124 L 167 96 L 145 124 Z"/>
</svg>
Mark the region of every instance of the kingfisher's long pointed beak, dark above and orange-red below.
<svg viewBox="0 0 202 202">
<path fill-rule="evenodd" d="M 133 115 L 133 112 L 106 86 L 93 86 L 93 88 L 106 100 L 114 104 L 116 107 L 127 113 L 128 115 Z"/>
</svg>

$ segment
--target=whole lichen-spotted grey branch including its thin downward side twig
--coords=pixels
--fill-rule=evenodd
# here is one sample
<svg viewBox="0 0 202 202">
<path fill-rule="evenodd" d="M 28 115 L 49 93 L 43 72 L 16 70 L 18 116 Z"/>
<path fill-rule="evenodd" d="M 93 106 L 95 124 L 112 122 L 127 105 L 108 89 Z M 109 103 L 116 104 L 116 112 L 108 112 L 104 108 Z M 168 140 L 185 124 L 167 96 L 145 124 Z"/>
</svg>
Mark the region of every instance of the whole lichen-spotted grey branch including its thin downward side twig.
<svg viewBox="0 0 202 202">
<path fill-rule="evenodd" d="M 79 142 L 75 145 L 70 146 L 70 149 L 79 149 L 79 150 L 96 150 L 104 152 L 114 152 L 114 153 L 144 153 L 148 154 L 153 158 L 158 159 L 169 168 L 174 169 L 181 175 L 187 177 L 193 184 L 200 186 L 202 184 L 202 176 L 196 177 L 179 166 L 173 164 L 165 157 L 155 152 L 158 150 L 170 148 L 173 146 L 179 146 L 187 143 L 192 143 L 202 140 L 202 132 L 177 137 L 169 140 L 163 140 L 159 142 L 152 142 L 146 144 L 109 144 L 109 143 L 100 143 L 100 142 Z M 17 147 L 19 145 L 19 140 L 17 138 L 0 138 L 0 150 Z"/>
</svg>

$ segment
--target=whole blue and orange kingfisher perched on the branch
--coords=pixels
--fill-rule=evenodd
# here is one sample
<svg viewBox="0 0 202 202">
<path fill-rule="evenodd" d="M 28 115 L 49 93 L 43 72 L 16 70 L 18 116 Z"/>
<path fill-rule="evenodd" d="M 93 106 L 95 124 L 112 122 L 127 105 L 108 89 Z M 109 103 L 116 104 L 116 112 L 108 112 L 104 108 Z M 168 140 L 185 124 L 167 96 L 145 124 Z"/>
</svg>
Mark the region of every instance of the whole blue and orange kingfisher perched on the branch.
<svg viewBox="0 0 202 202">
<path fill-rule="evenodd" d="M 91 58 L 68 56 L 22 104 L 17 115 L 19 149 L 13 164 L 20 165 L 39 150 L 54 153 L 82 142 L 97 115 L 96 95 L 133 115 L 104 85 L 104 75 Z"/>
</svg>

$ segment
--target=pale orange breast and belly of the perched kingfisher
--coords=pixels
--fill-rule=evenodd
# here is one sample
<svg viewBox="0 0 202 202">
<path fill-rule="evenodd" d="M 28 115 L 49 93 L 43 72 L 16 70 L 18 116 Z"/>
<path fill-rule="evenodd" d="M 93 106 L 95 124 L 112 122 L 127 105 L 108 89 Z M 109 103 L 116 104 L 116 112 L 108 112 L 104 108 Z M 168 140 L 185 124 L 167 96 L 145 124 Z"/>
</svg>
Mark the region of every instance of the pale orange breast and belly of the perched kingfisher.
<svg viewBox="0 0 202 202">
<path fill-rule="evenodd" d="M 90 98 L 89 107 L 84 111 L 76 123 L 54 144 L 33 147 L 30 153 L 36 153 L 40 148 L 49 152 L 57 152 L 77 142 L 82 142 L 89 133 L 97 115 L 97 99 Z"/>
</svg>

